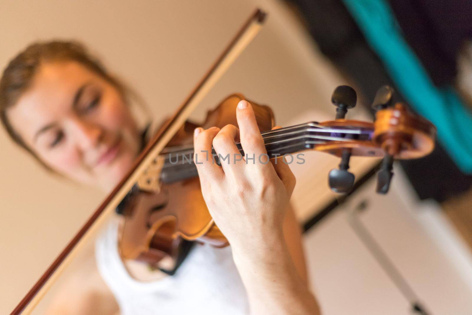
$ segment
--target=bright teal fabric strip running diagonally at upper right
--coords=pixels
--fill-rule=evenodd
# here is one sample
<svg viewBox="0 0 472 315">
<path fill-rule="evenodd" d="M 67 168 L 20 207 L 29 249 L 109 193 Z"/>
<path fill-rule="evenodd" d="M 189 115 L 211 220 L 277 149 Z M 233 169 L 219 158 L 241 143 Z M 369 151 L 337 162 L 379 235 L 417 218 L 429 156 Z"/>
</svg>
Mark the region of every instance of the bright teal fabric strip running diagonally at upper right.
<svg viewBox="0 0 472 315">
<path fill-rule="evenodd" d="M 437 88 L 406 43 L 385 0 L 343 0 L 412 108 L 438 128 L 438 141 L 472 173 L 472 113 L 453 87 Z"/>
</svg>

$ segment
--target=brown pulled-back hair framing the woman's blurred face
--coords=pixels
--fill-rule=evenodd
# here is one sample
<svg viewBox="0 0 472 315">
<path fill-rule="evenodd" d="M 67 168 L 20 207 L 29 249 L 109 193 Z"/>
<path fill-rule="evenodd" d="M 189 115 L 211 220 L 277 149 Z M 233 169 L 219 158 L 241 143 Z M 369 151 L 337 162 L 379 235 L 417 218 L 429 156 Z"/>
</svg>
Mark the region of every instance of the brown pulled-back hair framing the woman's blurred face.
<svg viewBox="0 0 472 315">
<path fill-rule="evenodd" d="M 110 75 L 101 62 L 93 57 L 81 43 L 74 41 L 38 42 L 21 51 L 8 63 L 0 79 L 0 120 L 8 135 L 17 145 L 31 153 L 47 169 L 50 169 L 15 132 L 7 116 L 8 108 L 14 106 L 21 95 L 28 90 L 38 69 L 46 61 L 76 61 L 114 85 L 125 100 L 129 96 L 137 98 L 137 95 L 116 77 Z"/>
</svg>

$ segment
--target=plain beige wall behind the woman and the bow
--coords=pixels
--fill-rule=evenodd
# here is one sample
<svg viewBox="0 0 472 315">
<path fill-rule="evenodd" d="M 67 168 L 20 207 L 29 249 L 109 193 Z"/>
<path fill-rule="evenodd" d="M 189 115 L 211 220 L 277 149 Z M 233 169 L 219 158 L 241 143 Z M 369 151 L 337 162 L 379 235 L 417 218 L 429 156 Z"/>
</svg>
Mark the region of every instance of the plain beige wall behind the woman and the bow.
<svg viewBox="0 0 472 315">
<path fill-rule="evenodd" d="M 0 66 L 35 40 L 81 40 L 159 120 L 176 109 L 256 3 L 270 13 L 267 25 L 202 105 L 242 92 L 270 104 L 282 125 L 309 108 L 334 113 L 330 94 L 344 82 L 314 59 L 284 5 L 270 0 L 2 1 Z M 51 176 L 3 131 L 0 148 L 0 314 L 6 314 L 103 195 Z"/>
</svg>

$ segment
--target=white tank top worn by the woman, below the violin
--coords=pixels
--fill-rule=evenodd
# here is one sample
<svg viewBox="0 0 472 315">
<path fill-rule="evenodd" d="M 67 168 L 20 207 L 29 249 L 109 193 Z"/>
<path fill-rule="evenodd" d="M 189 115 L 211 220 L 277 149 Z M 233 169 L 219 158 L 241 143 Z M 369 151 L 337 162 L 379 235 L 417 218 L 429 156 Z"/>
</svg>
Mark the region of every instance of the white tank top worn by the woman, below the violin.
<svg viewBox="0 0 472 315">
<path fill-rule="evenodd" d="M 95 243 L 98 270 L 122 315 L 246 315 L 244 285 L 231 249 L 195 245 L 176 274 L 141 282 L 126 271 L 118 255 L 118 221 L 112 221 Z"/>
</svg>

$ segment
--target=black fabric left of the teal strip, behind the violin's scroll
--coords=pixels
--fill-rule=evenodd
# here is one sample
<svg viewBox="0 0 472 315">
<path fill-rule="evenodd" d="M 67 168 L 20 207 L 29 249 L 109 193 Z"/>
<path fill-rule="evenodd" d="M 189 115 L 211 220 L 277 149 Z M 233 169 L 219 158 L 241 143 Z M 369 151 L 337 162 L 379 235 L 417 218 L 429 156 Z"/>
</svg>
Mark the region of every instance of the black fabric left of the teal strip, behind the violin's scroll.
<svg viewBox="0 0 472 315">
<path fill-rule="evenodd" d="M 396 88 L 341 0 L 289 2 L 298 8 L 321 52 L 355 81 L 366 98 L 362 104 L 369 106 L 381 85 Z M 402 100 L 396 93 L 396 101 Z M 438 144 L 429 156 L 400 163 L 421 199 L 440 202 L 472 187 L 472 176 L 462 173 Z"/>
</svg>

